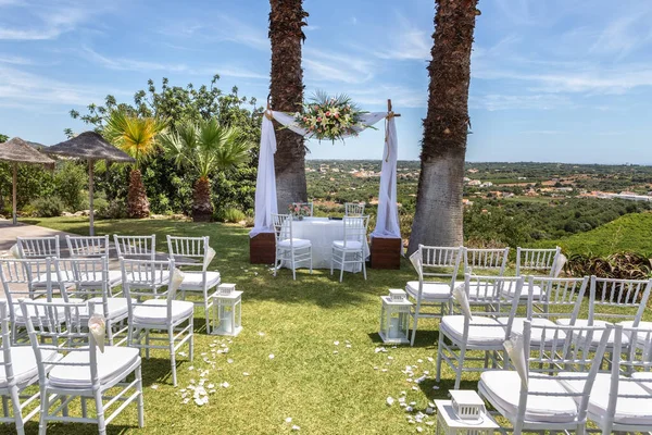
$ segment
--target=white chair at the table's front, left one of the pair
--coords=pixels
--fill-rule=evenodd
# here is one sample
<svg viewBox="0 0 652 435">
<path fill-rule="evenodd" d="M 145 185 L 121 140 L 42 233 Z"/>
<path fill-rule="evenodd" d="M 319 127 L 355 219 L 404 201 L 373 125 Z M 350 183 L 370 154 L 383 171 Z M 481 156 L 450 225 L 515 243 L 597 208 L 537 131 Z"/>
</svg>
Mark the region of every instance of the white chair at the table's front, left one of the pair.
<svg viewBox="0 0 652 435">
<path fill-rule="evenodd" d="M 292 216 L 290 214 L 272 214 L 276 237 L 276 258 L 274 276 L 285 263 L 292 269 L 292 279 L 297 279 L 297 269 L 308 262 L 312 273 L 312 244 L 310 240 L 292 236 Z"/>
</svg>

